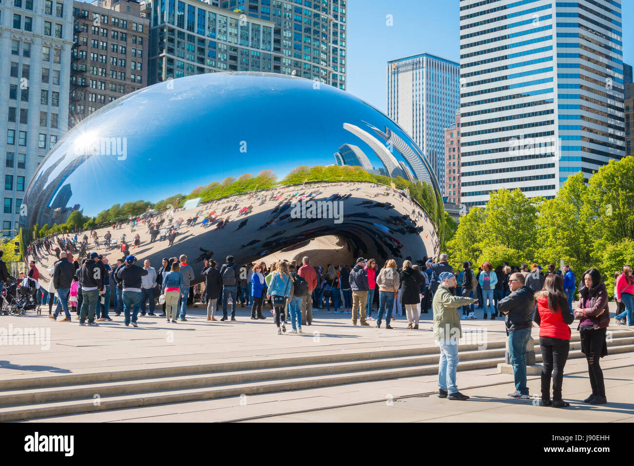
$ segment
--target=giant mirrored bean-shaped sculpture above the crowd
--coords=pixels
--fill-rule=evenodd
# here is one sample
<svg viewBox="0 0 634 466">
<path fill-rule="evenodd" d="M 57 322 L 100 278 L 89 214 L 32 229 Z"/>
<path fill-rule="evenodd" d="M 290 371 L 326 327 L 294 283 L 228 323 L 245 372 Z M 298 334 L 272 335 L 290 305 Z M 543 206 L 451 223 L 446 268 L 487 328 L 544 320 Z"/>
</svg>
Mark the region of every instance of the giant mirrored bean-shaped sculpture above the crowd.
<svg viewBox="0 0 634 466">
<path fill-rule="evenodd" d="M 428 161 L 380 111 L 298 77 L 212 73 L 136 91 L 70 130 L 30 182 L 20 236 L 44 282 L 75 229 L 75 258 L 96 249 L 113 263 L 125 237 L 155 267 L 188 255 L 198 282 L 205 258 L 227 255 L 416 261 L 437 256 L 443 224 Z M 98 246 L 81 246 L 93 229 Z"/>
</svg>

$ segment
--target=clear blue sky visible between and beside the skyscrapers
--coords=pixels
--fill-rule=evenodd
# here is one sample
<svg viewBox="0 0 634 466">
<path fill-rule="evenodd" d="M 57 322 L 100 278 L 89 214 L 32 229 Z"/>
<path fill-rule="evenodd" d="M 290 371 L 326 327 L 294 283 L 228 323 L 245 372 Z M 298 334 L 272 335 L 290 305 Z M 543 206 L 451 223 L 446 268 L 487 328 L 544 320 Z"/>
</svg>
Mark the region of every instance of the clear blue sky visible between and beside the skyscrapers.
<svg viewBox="0 0 634 466">
<path fill-rule="evenodd" d="M 634 0 L 621 5 L 623 61 L 633 65 Z M 381 111 L 387 61 L 425 52 L 460 60 L 458 0 L 348 0 L 347 14 L 347 90 Z"/>
</svg>

